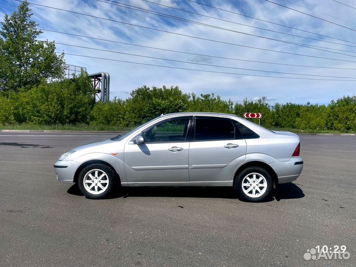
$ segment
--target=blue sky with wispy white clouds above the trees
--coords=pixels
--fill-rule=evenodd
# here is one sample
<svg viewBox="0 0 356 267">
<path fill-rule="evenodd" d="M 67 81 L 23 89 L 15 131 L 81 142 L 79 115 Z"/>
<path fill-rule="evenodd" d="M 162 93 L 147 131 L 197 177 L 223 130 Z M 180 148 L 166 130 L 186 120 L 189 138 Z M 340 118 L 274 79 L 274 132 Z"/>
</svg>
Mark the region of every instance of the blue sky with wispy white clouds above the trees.
<svg viewBox="0 0 356 267">
<path fill-rule="evenodd" d="M 197 95 L 215 93 L 235 103 L 266 96 L 271 105 L 327 104 L 332 99 L 354 95 L 356 8 L 350 6 L 356 7 L 356 2 L 339 0 L 350 5 L 346 6 L 334 0 L 271 1 L 289 8 L 267 0 L 29 2 L 34 3 L 30 4 L 32 20 L 44 29 L 38 39 L 55 41 L 59 52 L 82 55 L 66 54 L 67 64 L 86 67 L 89 74 L 108 72 L 110 99 L 126 99 L 132 90 L 142 86 L 163 85 L 178 86 L 183 92 Z M 0 21 L 19 4 L 15 0 L 1 2 Z"/>
</svg>

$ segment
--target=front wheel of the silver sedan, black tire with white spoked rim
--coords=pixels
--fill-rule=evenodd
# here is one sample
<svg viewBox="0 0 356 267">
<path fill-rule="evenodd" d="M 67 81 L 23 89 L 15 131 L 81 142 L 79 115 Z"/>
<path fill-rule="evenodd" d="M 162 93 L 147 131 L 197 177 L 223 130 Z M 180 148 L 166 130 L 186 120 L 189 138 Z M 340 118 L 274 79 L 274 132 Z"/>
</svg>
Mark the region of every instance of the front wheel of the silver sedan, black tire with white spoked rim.
<svg viewBox="0 0 356 267">
<path fill-rule="evenodd" d="M 115 183 L 113 170 L 104 164 L 90 164 L 79 174 L 78 184 L 87 198 L 100 199 L 107 196 Z"/>
</svg>

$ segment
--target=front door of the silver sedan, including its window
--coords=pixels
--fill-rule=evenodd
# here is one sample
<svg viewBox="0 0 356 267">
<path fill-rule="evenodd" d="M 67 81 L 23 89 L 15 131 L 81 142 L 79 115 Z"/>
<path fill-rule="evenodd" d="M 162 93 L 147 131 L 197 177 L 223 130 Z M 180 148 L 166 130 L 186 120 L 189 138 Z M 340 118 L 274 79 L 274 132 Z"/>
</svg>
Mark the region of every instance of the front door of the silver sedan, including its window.
<svg viewBox="0 0 356 267">
<path fill-rule="evenodd" d="M 191 125 L 192 116 L 166 119 L 139 134 L 144 143 L 128 142 L 124 160 L 129 185 L 189 181 Z"/>
</svg>

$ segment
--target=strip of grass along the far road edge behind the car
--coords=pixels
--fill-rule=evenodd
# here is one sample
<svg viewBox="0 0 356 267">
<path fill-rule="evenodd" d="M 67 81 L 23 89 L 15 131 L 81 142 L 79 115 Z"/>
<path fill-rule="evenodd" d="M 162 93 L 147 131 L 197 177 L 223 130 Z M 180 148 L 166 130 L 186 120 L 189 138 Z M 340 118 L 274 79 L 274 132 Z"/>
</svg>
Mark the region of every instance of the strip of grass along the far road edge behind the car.
<svg viewBox="0 0 356 267">
<path fill-rule="evenodd" d="M 37 131 L 131 131 L 134 127 L 121 127 L 110 125 L 91 125 L 91 124 L 0 124 L 0 130 L 37 130 Z M 275 131 L 288 131 L 295 134 L 355 134 L 355 131 L 333 131 L 333 130 L 301 130 L 290 128 L 270 128 Z"/>
</svg>

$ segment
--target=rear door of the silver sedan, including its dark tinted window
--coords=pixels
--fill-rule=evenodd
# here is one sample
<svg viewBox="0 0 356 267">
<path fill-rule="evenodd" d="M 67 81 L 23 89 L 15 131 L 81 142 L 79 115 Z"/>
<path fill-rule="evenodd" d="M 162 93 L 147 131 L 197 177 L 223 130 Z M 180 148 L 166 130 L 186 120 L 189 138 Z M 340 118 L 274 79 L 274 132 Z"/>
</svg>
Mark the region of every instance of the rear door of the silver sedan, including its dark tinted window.
<svg viewBox="0 0 356 267">
<path fill-rule="evenodd" d="M 190 181 L 229 181 L 245 161 L 246 141 L 229 118 L 197 116 L 189 148 Z"/>
</svg>

